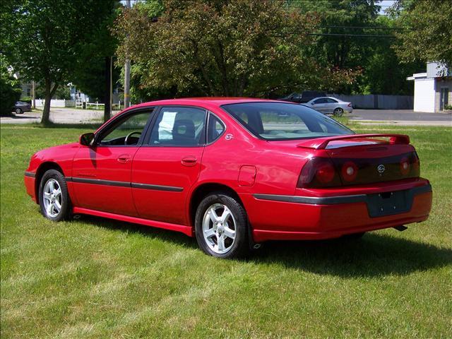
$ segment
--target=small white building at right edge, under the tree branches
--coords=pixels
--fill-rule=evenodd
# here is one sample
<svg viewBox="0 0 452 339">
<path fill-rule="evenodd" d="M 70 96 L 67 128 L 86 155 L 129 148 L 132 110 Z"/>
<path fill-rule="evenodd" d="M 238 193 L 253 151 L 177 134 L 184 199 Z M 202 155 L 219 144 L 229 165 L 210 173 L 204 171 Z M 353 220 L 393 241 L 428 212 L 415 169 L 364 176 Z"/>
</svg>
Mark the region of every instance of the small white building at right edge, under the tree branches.
<svg viewBox="0 0 452 339">
<path fill-rule="evenodd" d="M 416 73 L 415 112 L 443 112 L 452 105 L 452 71 L 436 62 L 427 63 L 426 73 Z"/>
</svg>

